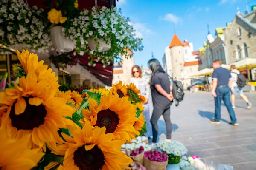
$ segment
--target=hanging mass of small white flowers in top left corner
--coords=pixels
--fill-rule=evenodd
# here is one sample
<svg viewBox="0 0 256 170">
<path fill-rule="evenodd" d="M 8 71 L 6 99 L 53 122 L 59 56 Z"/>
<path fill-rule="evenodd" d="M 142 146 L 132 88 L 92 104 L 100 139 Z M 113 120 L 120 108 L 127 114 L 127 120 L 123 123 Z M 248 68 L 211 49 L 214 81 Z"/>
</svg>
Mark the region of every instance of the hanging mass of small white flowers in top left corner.
<svg viewBox="0 0 256 170">
<path fill-rule="evenodd" d="M 14 48 L 49 52 L 52 42 L 46 28 L 47 21 L 42 17 L 43 12 L 37 6 L 29 8 L 23 0 L 1 0 L 0 51 Z"/>
</svg>

